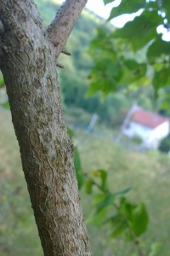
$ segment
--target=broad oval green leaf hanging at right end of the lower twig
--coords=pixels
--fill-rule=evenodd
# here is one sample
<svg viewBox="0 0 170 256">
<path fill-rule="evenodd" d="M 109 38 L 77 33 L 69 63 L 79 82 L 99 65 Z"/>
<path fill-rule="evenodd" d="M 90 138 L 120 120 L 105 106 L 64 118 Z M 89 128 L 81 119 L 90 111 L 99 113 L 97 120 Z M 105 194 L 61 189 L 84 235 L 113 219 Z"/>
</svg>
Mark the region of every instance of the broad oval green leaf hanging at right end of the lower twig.
<svg viewBox="0 0 170 256">
<path fill-rule="evenodd" d="M 143 203 L 139 203 L 137 207 L 133 208 L 132 224 L 136 236 L 140 236 L 147 230 L 148 213 Z"/>
</svg>

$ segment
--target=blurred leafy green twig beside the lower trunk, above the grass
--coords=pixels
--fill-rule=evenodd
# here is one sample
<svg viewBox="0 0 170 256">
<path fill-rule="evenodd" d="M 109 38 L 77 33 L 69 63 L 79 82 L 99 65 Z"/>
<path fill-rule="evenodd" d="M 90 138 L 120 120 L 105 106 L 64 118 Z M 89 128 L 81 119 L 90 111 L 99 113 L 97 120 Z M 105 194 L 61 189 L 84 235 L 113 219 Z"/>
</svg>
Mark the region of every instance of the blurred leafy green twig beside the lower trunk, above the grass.
<svg viewBox="0 0 170 256">
<path fill-rule="evenodd" d="M 74 132 L 68 130 L 71 138 Z M 94 201 L 94 210 L 88 217 L 88 223 L 97 225 L 99 228 L 109 225 L 110 239 L 123 237 L 125 241 L 132 241 L 137 247 L 138 255 L 145 256 L 144 249 L 139 241 L 148 228 L 148 212 L 142 202 L 134 204 L 127 199 L 127 192 L 132 187 L 127 187 L 116 192 L 111 192 L 108 185 L 108 172 L 95 170 L 88 173 L 83 172 L 82 163 L 77 148 L 74 149 L 74 164 L 77 173 L 78 188 L 85 186 L 87 194 Z M 97 189 L 97 193 L 93 193 Z M 156 256 L 161 251 L 160 242 L 152 242 L 149 256 Z"/>
</svg>

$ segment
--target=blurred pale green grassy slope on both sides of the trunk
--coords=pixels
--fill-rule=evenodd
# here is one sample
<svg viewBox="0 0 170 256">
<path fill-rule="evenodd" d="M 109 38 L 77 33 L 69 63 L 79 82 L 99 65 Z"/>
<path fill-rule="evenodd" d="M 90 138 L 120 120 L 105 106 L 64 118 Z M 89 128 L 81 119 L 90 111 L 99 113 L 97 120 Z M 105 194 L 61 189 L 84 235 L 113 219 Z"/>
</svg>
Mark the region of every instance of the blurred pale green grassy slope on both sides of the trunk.
<svg viewBox="0 0 170 256">
<path fill-rule="evenodd" d="M 0 255 L 42 255 L 26 182 L 20 166 L 19 148 L 14 137 L 10 113 L 0 111 Z M 102 130 L 103 138 L 95 133 L 85 136 L 77 133 L 77 146 L 81 152 L 85 172 L 96 168 L 108 170 L 113 191 L 133 185 L 129 197 L 144 201 L 149 214 L 148 232 L 142 237 L 146 251 L 152 241 L 161 241 L 159 256 L 169 256 L 170 206 L 167 194 L 170 187 L 169 160 L 158 153 L 139 154 L 113 143 L 111 131 Z M 85 215 L 92 210 L 91 197 L 81 191 Z M 111 241 L 108 230 L 98 230 L 88 224 L 94 255 L 137 256 L 136 249 L 122 240 Z M 114 253 L 113 253 L 114 252 Z"/>
</svg>

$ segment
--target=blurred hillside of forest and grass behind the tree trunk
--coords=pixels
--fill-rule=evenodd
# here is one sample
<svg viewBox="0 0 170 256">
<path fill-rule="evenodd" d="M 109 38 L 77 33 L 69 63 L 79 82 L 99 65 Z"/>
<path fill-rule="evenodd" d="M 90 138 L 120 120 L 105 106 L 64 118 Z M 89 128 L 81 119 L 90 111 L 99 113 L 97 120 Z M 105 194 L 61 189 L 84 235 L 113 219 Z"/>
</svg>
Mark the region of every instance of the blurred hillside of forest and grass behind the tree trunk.
<svg viewBox="0 0 170 256">
<path fill-rule="evenodd" d="M 49 0 L 37 0 L 44 25 L 47 26 L 59 8 Z M 93 66 L 88 55 L 88 44 L 96 33 L 96 27 L 104 20 L 84 11 L 77 21 L 71 38 L 65 49 L 71 51 L 71 57 L 62 55 L 59 61 L 65 70 L 59 70 L 59 82 L 65 109 L 65 119 L 76 131 L 75 144 L 80 150 L 82 169 L 91 172 L 105 169 L 109 175 L 112 191 L 132 185 L 127 195 L 133 201 L 144 201 L 150 216 L 148 231 L 141 237 L 141 245 L 147 253 L 150 244 L 160 241 L 159 256 L 170 255 L 170 205 L 167 191 L 170 187 L 170 160 L 166 154 L 150 151 L 139 154 L 122 148 L 114 141 L 114 132 L 105 125 L 96 125 L 91 135 L 86 128 L 92 113 L 99 113 L 100 120 L 107 120 L 111 125 L 121 123 L 120 114 L 138 99 L 141 106 L 156 109 L 156 102 L 150 100 L 152 91 L 141 88 L 108 96 L 101 102 L 99 93 L 87 98 L 88 72 Z M 102 25 L 102 26 L 105 26 Z M 111 29 L 111 26 L 105 26 Z M 128 95 L 128 97 L 127 97 Z M 14 135 L 11 116 L 8 110 L 0 109 L 0 255 L 42 256 L 42 247 L 37 234 L 37 226 L 31 210 L 26 181 L 20 164 L 20 151 Z M 81 190 L 82 207 L 88 224 L 88 233 L 94 255 L 97 256 L 138 256 L 132 243 L 123 239 L 111 240 L 110 229 L 98 229 L 89 221 L 93 211 L 91 195 Z M 96 190 L 94 189 L 94 194 Z"/>
</svg>

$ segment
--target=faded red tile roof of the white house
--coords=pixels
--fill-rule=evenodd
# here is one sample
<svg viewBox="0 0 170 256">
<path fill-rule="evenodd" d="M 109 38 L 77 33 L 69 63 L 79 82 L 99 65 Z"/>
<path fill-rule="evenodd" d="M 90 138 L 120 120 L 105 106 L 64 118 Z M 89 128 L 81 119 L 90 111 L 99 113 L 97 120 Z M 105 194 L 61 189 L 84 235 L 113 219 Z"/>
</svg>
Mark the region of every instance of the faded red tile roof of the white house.
<svg viewBox="0 0 170 256">
<path fill-rule="evenodd" d="M 132 120 L 133 122 L 136 122 L 151 128 L 156 128 L 162 123 L 169 121 L 169 119 L 162 117 L 157 113 L 150 113 L 150 112 L 144 111 L 143 109 L 136 110 L 133 113 Z"/>
</svg>

